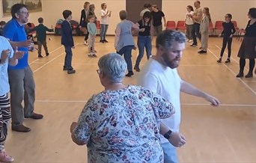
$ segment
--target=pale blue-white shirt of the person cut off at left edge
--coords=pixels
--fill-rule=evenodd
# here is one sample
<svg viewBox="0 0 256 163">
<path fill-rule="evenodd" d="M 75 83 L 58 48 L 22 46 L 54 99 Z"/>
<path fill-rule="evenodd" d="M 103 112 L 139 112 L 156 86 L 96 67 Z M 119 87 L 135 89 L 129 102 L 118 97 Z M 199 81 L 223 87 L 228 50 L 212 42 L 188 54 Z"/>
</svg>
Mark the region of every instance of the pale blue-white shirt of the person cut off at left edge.
<svg viewBox="0 0 256 163">
<path fill-rule="evenodd" d="M 9 58 L 13 57 L 13 48 L 10 46 L 9 41 L 5 37 L 0 36 L 0 58 L 1 58 L 1 52 L 3 50 L 10 49 L 10 55 Z M 10 85 L 8 82 L 8 73 L 7 68 L 9 64 L 9 58 L 4 61 L 4 63 L 0 64 L 0 96 L 3 96 L 4 94 L 8 93 L 10 91 Z"/>
</svg>

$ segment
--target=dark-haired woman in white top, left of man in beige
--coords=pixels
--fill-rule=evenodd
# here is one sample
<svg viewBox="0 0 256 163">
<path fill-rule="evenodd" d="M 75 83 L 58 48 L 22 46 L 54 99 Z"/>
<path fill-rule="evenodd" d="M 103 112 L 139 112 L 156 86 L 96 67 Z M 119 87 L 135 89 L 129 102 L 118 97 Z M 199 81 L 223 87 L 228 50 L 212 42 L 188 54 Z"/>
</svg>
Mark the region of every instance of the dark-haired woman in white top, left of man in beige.
<svg viewBox="0 0 256 163">
<path fill-rule="evenodd" d="M 185 24 L 186 24 L 186 37 L 187 37 L 187 41 L 190 43 L 192 42 L 192 29 L 193 29 L 193 19 L 192 16 L 194 15 L 194 9 L 192 6 L 188 5 L 186 7 L 186 19 L 185 19 Z"/>
</svg>

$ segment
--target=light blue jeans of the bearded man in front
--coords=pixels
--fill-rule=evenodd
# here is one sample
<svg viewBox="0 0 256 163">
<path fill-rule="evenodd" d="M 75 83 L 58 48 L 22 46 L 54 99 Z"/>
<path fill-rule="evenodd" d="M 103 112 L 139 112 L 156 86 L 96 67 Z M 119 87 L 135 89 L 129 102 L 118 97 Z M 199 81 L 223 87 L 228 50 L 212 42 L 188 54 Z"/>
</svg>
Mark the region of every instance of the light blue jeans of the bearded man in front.
<svg viewBox="0 0 256 163">
<path fill-rule="evenodd" d="M 177 150 L 176 147 L 172 146 L 170 143 L 161 144 L 162 150 L 164 151 L 164 163 L 177 163 Z"/>
</svg>

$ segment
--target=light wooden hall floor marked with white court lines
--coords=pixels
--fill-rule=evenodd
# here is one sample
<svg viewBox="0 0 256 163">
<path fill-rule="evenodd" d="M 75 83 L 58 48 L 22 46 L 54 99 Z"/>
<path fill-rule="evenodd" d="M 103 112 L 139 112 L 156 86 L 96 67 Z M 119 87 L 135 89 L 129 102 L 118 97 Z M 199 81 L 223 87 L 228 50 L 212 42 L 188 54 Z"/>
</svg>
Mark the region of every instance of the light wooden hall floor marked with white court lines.
<svg viewBox="0 0 256 163">
<path fill-rule="evenodd" d="M 6 150 L 15 162 L 87 162 L 86 147 L 78 147 L 71 141 L 70 123 L 77 120 L 88 98 L 103 90 L 96 72 L 98 58 L 88 58 L 83 37 L 74 37 L 76 74 L 67 75 L 62 70 L 64 48 L 60 37 L 48 37 L 52 37 L 48 40 L 49 57 L 38 59 L 37 52 L 29 56 L 36 83 L 35 111 L 45 117 L 25 120 L 31 132 L 10 131 Z M 109 43 L 100 44 L 97 37 L 99 57 L 115 52 L 114 37 L 107 39 Z M 240 47 L 236 39 L 231 64 L 216 63 L 221 38 L 210 38 L 209 44 L 207 55 L 198 55 L 198 48 L 188 44 L 179 73 L 186 81 L 217 96 L 222 105 L 213 108 L 203 99 L 181 95 L 181 132 L 187 144 L 178 150 L 180 162 L 256 162 L 256 77 L 235 77 L 239 70 L 237 52 Z M 132 52 L 133 63 L 137 54 L 137 51 Z M 146 58 L 142 64 L 145 62 Z M 247 71 L 248 67 L 245 73 Z M 126 78 L 125 83 L 136 84 L 138 76 L 139 73 L 135 73 L 132 78 Z"/>
</svg>

